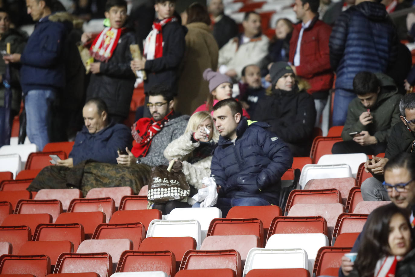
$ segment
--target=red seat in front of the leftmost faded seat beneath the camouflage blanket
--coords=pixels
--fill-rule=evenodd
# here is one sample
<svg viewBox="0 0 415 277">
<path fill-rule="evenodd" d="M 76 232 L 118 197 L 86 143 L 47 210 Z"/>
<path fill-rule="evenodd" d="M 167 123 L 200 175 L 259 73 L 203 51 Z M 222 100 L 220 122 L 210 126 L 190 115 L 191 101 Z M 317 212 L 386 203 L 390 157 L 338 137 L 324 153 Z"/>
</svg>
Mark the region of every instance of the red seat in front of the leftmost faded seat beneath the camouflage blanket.
<svg viewBox="0 0 415 277">
<path fill-rule="evenodd" d="M 62 213 L 62 203 L 59 200 L 29 200 L 21 199 L 16 204 L 15 213 L 49 213 L 52 216 L 52 223 Z"/>
</svg>

